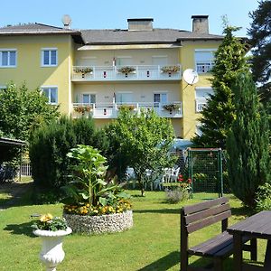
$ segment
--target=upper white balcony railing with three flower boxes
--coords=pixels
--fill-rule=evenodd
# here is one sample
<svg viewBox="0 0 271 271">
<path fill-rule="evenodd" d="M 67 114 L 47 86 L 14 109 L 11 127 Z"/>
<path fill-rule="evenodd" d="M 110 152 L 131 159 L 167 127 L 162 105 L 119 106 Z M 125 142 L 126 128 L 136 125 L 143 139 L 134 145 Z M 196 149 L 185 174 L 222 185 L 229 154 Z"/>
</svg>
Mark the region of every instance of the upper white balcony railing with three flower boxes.
<svg viewBox="0 0 271 271">
<path fill-rule="evenodd" d="M 127 66 L 74 66 L 72 68 L 73 81 L 105 81 L 105 80 L 176 80 L 182 79 L 180 64 L 177 71 L 166 71 L 159 65 L 129 65 L 134 68 L 131 72 L 120 71 Z M 168 66 L 167 66 L 168 67 Z M 87 71 L 87 72 L 85 72 Z"/>
</svg>

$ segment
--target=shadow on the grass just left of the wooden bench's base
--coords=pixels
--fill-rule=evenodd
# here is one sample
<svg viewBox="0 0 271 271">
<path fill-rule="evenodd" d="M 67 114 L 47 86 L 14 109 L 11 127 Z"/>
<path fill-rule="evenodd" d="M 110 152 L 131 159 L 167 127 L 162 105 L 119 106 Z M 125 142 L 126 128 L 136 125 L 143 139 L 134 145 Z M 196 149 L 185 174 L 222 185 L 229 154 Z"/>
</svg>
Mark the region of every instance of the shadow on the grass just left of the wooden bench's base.
<svg viewBox="0 0 271 271">
<path fill-rule="evenodd" d="M 180 252 L 173 251 L 170 254 L 153 262 L 152 264 L 145 266 L 141 269 L 138 269 L 137 271 L 146 271 L 146 270 L 164 271 L 179 264 L 180 264 Z"/>
</svg>

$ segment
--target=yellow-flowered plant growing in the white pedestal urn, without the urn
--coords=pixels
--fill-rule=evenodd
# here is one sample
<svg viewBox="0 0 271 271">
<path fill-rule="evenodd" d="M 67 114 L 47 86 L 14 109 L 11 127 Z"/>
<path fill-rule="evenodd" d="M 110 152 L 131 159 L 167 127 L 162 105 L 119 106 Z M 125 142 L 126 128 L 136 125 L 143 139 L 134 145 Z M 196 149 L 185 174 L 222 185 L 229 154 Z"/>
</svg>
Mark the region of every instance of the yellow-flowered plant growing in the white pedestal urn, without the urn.
<svg viewBox="0 0 271 271">
<path fill-rule="evenodd" d="M 68 225 L 64 218 L 53 217 L 51 213 L 47 213 L 41 215 L 39 220 L 34 221 L 31 227 L 33 229 L 57 231 L 66 230 Z"/>
</svg>

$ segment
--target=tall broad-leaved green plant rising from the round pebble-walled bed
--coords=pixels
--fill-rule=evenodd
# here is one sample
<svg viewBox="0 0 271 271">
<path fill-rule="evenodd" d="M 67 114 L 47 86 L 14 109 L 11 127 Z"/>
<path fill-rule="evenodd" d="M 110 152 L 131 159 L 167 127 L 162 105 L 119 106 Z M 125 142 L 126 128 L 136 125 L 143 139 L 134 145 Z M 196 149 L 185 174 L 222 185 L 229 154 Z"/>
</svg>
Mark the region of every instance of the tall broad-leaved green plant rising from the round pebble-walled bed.
<svg viewBox="0 0 271 271">
<path fill-rule="evenodd" d="M 89 145 L 78 145 L 67 156 L 75 162 L 70 175 L 71 181 L 63 187 L 68 195 L 65 203 L 75 206 L 71 210 L 86 206 L 86 202 L 89 208 L 112 206 L 116 201 L 126 198 L 126 193 L 117 184 L 105 182 L 107 158 L 99 154 L 97 149 Z"/>
</svg>

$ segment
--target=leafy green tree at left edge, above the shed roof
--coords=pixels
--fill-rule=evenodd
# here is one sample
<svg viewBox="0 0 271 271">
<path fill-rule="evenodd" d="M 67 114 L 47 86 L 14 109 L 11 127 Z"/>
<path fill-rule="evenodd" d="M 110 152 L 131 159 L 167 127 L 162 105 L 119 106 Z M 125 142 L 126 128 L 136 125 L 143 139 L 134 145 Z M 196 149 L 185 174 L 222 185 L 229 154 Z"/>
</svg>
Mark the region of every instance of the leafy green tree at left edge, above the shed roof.
<svg viewBox="0 0 271 271">
<path fill-rule="evenodd" d="M 28 141 L 34 128 L 59 117 L 57 107 L 48 105 L 47 98 L 39 89 L 29 91 L 23 84 L 9 84 L 0 91 L 0 131 L 3 136 Z M 22 148 L 12 148 L 1 154 L 1 160 L 19 157 Z"/>
</svg>

